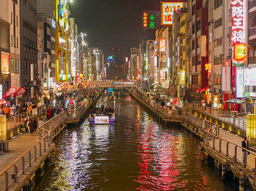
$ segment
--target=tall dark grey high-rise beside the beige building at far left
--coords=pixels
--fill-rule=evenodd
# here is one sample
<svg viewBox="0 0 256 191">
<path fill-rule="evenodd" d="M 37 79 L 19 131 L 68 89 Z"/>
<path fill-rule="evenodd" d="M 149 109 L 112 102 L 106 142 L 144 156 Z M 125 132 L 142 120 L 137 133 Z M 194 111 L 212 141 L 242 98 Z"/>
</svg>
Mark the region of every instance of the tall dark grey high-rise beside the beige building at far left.
<svg viewBox="0 0 256 191">
<path fill-rule="evenodd" d="M 23 0 L 20 3 L 20 76 L 21 86 L 26 87 L 28 95 L 34 98 L 41 80 L 38 79 L 37 64 L 37 20 L 36 1 Z M 17 37 L 16 37 L 17 38 Z"/>
</svg>

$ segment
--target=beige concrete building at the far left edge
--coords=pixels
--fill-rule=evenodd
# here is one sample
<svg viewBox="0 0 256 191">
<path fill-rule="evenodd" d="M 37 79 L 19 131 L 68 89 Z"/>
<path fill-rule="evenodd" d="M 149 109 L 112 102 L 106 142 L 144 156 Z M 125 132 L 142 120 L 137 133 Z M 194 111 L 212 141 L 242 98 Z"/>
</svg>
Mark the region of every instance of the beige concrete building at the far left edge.
<svg viewBox="0 0 256 191">
<path fill-rule="evenodd" d="M 20 86 L 20 0 L 0 1 L 1 20 L 1 61 L 8 58 L 6 69 L 2 69 L 0 77 L 0 97 L 4 96 L 10 87 L 17 90 Z M 23 24 L 23 22 L 22 22 Z M 3 66 L 2 66 L 3 67 Z M 2 78 L 2 79 L 1 79 Z M 2 94 L 2 96 L 1 96 Z M 16 98 L 20 98 L 16 96 Z M 10 100 L 10 96 L 6 100 Z M 15 102 L 13 102 L 15 104 Z"/>
</svg>

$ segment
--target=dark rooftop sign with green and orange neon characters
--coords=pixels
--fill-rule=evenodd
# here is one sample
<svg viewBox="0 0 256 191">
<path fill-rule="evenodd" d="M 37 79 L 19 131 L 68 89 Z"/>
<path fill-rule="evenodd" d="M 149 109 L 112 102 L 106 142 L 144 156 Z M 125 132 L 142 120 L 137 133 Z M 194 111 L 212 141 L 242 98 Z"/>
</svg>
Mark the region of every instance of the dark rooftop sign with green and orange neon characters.
<svg viewBox="0 0 256 191">
<path fill-rule="evenodd" d="M 144 11 L 142 16 L 144 29 L 158 29 L 160 26 L 159 14 L 159 11 Z"/>
</svg>

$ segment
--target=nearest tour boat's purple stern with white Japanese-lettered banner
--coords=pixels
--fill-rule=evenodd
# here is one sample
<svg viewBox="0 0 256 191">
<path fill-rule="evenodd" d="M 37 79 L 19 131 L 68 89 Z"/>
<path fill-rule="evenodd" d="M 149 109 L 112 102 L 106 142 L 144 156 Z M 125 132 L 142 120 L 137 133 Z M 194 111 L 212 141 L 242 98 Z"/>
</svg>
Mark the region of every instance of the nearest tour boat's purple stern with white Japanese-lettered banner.
<svg viewBox="0 0 256 191">
<path fill-rule="evenodd" d="M 89 118 L 90 125 L 112 125 L 115 121 L 115 113 L 108 113 L 108 115 L 95 113 L 90 114 Z"/>
</svg>

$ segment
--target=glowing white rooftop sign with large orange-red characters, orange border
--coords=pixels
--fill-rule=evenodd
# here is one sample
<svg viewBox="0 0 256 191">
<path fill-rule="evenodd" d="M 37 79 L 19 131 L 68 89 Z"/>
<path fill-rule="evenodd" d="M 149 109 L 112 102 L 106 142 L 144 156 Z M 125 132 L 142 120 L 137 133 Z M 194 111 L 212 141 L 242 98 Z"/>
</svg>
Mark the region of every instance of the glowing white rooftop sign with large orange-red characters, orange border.
<svg viewBox="0 0 256 191">
<path fill-rule="evenodd" d="M 174 12 L 180 12 L 183 2 L 162 2 L 162 25 L 172 25 Z"/>
</svg>

